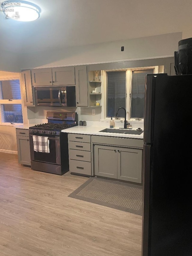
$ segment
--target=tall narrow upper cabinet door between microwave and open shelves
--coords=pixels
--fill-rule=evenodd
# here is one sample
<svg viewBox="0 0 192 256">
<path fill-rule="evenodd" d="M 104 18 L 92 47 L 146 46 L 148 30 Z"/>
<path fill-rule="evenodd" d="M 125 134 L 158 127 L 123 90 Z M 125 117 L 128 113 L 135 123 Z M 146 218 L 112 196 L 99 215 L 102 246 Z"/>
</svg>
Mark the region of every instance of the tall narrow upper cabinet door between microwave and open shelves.
<svg viewBox="0 0 192 256">
<path fill-rule="evenodd" d="M 87 66 L 75 67 L 75 80 L 76 80 L 76 106 L 88 106 L 88 92 L 87 92 Z"/>
</svg>

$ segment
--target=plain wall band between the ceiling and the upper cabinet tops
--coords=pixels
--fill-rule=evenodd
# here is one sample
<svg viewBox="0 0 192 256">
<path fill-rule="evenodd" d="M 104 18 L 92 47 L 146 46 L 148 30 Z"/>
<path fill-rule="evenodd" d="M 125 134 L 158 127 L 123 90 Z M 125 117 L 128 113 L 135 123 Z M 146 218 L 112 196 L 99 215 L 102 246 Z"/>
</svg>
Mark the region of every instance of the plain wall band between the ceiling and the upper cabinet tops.
<svg viewBox="0 0 192 256">
<path fill-rule="evenodd" d="M 178 49 L 182 32 L 91 44 L 52 51 L 25 53 L 21 57 L 21 68 L 80 65 L 87 63 L 113 62 L 119 60 L 145 59 L 173 56 Z M 124 46 L 124 51 L 121 47 Z"/>
</svg>

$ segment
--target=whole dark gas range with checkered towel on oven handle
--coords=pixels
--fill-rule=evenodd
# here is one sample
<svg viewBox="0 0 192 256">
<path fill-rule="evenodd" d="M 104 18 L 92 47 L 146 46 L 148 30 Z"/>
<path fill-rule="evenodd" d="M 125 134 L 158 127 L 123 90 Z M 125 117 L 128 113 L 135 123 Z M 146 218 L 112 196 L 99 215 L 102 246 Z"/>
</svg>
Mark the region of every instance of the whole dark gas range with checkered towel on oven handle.
<svg viewBox="0 0 192 256">
<path fill-rule="evenodd" d="M 46 119 L 29 127 L 31 168 L 62 175 L 69 171 L 69 154 L 68 134 L 61 130 L 78 125 L 77 113 L 47 111 Z"/>
</svg>

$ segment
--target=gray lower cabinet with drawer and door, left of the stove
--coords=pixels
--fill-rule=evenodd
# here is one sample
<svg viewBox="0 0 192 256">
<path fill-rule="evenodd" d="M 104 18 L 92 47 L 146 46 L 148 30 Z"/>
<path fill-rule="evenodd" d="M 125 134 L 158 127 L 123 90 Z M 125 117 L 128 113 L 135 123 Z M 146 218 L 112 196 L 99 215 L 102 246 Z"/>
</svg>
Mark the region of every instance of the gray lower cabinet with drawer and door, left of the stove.
<svg viewBox="0 0 192 256">
<path fill-rule="evenodd" d="M 16 128 L 16 140 L 19 164 L 31 165 L 29 130 Z"/>
</svg>

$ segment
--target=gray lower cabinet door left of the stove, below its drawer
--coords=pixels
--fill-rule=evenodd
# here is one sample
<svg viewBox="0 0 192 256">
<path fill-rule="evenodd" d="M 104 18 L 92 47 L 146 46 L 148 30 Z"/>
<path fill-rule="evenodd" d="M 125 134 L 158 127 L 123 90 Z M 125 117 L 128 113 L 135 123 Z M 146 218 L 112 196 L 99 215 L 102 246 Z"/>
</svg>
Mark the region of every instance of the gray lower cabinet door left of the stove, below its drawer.
<svg viewBox="0 0 192 256">
<path fill-rule="evenodd" d="M 16 138 L 19 164 L 31 165 L 29 137 L 17 136 Z"/>
</svg>

